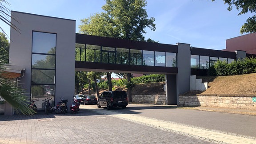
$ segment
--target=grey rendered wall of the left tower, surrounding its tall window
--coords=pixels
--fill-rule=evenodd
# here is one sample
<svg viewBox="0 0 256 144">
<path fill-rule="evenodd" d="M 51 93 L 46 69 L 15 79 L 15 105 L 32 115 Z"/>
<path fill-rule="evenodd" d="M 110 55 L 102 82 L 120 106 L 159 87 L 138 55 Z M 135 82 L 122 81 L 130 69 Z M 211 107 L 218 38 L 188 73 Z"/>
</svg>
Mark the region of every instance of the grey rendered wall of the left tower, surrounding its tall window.
<svg viewBox="0 0 256 144">
<path fill-rule="evenodd" d="M 11 12 L 11 20 L 19 30 L 11 28 L 10 64 L 26 68 L 20 86 L 30 96 L 32 31 L 56 33 L 55 101 L 60 97 L 71 104 L 75 81 L 76 21 L 23 12 Z"/>
</svg>

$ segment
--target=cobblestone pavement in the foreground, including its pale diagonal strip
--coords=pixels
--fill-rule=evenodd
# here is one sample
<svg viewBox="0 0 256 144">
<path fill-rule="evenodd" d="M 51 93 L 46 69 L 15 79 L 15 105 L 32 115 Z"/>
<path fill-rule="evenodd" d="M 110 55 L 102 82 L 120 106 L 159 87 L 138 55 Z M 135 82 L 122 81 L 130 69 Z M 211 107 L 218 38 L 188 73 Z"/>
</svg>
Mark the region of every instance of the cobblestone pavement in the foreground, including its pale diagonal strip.
<svg viewBox="0 0 256 144">
<path fill-rule="evenodd" d="M 248 137 L 81 105 L 76 114 L 0 116 L 0 144 L 256 144 Z"/>
</svg>

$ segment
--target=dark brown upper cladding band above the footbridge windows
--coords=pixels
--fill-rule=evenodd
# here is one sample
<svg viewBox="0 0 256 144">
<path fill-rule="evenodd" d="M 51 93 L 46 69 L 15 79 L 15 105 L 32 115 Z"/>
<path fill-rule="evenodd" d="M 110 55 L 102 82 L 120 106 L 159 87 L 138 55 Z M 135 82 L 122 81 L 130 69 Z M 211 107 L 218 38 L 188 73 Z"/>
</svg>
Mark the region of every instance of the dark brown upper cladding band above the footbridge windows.
<svg viewBox="0 0 256 144">
<path fill-rule="evenodd" d="M 178 52 L 178 46 L 172 44 L 159 44 L 135 40 L 124 40 L 102 36 L 91 36 L 79 33 L 76 33 L 76 43 L 101 45 L 114 48 L 131 48 L 157 52 Z"/>
</svg>

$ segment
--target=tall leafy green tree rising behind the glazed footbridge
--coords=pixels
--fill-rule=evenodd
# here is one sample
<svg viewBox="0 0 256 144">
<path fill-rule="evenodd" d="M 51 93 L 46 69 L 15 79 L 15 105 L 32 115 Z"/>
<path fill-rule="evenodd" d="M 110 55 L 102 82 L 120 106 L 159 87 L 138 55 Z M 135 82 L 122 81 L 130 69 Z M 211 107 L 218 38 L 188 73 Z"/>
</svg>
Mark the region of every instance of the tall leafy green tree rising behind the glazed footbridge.
<svg viewBox="0 0 256 144">
<path fill-rule="evenodd" d="M 106 4 L 102 7 L 106 12 L 96 13 L 81 20 L 80 32 L 94 36 L 155 42 L 151 39 L 145 40 L 143 36 L 146 33 L 145 28 L 148 27 L 153 31 L 156 29 L 155 19 L 153 17 L 148 19 L 147 11 L 144 9 L 146 4 L 146 0 L 106 0 Z M 128 98 L 129 102 L 132 102 L 130 88 Z"/>
</svg>

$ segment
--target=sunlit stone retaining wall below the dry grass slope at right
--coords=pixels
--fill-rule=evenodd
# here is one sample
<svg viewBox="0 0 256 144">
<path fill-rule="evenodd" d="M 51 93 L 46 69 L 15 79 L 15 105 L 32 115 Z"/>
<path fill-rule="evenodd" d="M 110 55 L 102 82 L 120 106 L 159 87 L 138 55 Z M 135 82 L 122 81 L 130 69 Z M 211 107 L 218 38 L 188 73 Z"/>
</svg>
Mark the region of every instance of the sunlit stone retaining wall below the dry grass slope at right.
<svg viewBox="0 0 256 144">
<path fill-rule="evenodd" d="M 179 95 L 179 106 L 256 109 L 255 95 Z"/>
</svg>

